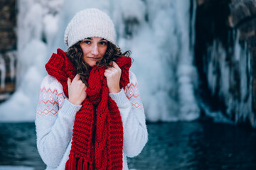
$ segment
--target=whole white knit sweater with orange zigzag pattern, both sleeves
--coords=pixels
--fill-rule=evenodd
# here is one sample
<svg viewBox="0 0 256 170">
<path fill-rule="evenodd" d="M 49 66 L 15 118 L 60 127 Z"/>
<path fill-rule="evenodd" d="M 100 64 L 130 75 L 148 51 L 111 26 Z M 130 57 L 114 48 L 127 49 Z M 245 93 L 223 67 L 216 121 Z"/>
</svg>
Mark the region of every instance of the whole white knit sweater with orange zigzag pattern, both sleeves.
<svg viewBox="0 0 256 170">
<path fill-rule="evenodd" d="M 132 72 L 129 72 L 129 80 L 118 94 L 110 94 L 117 103 L 124 127 L 123 169 L 128 169 L 127 157 L 142 152 L 148 137 L 138 83 Z M 38 152 L 47 170 L 65 169 L 75 114 L 80 108 L 68 101 L 57 79 L 50 75 L 43 79 L 36 109 L 36 135 Z"/>
</svg>

